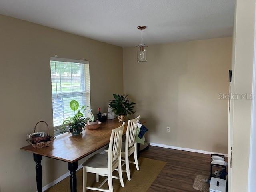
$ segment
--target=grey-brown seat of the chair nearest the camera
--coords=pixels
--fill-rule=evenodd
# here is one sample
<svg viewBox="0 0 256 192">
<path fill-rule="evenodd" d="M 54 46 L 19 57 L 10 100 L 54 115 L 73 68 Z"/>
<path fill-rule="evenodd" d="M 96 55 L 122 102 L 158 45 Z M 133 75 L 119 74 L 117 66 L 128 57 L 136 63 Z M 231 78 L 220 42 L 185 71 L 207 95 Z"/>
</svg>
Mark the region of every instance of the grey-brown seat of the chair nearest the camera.
<svg viewBox="0 0 256 192">
<path fill-rule="evenodd" d="M 108 168 L 108 154 L 97 153 L 86 162 L 83 163 L 84 167 L 93 167 L 93 168 Z"/>
</svg>

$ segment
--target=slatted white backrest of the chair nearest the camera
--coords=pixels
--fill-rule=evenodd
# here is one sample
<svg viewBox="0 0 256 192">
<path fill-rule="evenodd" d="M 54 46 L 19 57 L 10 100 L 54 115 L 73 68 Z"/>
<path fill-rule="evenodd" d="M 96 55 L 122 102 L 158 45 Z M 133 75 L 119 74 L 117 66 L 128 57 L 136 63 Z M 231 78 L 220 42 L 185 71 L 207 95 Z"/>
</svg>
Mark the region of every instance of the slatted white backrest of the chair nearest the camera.
<svg viewBox="0 0 256 192">
<path fill-rule="evenodd" d="M 108 146 L 108 166 L 111 166 L 112 162 L 121 156 L 124 124 L 125 122 L 123 122 L 122 126 L 112 129 Z"/>
</svg>

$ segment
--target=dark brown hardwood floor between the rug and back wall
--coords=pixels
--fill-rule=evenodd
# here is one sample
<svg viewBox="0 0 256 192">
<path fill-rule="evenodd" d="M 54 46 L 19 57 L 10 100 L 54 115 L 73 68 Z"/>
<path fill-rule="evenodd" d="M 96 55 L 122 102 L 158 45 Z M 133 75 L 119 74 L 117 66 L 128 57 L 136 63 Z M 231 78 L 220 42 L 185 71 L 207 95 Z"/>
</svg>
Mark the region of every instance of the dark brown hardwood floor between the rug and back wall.
<svg viewBox="0 0 256 192">
<path fill-rule="evenodd" d="M 165 161 L 148 192 L 199 192 L 192 185 L 196 175 L 210 175 L 210 155 L 149 146 L 140 156 Z"/>
</svg>

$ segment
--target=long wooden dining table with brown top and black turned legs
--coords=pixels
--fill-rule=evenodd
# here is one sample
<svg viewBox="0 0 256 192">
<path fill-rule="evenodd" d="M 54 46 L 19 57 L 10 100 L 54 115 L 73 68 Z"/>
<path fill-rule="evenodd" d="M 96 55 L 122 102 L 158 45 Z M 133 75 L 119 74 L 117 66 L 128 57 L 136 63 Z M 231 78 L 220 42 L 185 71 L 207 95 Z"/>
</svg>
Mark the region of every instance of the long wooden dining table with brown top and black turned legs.
<svg viewBox="0 0 256 192">
<path fill-rule="evenodd" d="M 140 120 L 144 124 L 145 120 Z M 32 152 L 36 162 L 36 186 L 37 191 L 42 192 L 42 157 L 53 158 L 68 163 L 70 171 L 70 191 L 76 192 L 76 170 L 78 160 L 92 154 L 100 148 L 106 146 L 110 140 L 112 129 L 118 128 L 122 123 L 117 119 L 107 120 L 100 125 L 97 130 L 88 130 L 85 128 L 79 136 L 63 133 L 56 136 L 49 147 L 35 149 L 31 145 L 20 148 L 21 150 Z M 123 134 L 126 134 L 127 122 L 124 126 Z"/>
</svg>

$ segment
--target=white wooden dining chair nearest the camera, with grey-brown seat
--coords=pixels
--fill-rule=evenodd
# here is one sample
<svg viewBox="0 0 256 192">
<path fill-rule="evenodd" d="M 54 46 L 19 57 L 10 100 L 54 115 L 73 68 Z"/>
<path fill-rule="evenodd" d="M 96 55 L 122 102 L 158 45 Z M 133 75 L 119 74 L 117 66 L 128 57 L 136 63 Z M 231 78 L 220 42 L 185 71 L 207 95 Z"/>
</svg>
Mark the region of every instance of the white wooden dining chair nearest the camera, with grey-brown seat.
<svg viewBox="0 0 256 192">
<path fill-rule="evenodd" d="M 108 154 L 95 154 L 84 162 L 83 166 L 83 191 L 86 189 L 113 192 L 112 178 L 119 179 L 121 186 L 124 187 L 124 181 L 122 177 L 122 162 L 121 162 L 121 148 L 122 148 L 122 135 L 124 130 L 124 122 L 122 126 L 113 129 L 110 136 L 110 142 L 108 147 Z M 112 176 L 112 172 L 118 168 L 119 177 Z M 106 176 L 106 179 L 96 187 L 86 186 L 86 174 L 87 172 L 96 173 L 97 182 L 99 182 L 99 175 Z M 101 188 L 104 183 L 108 181 L 108 189 Z"/>
</svg>

